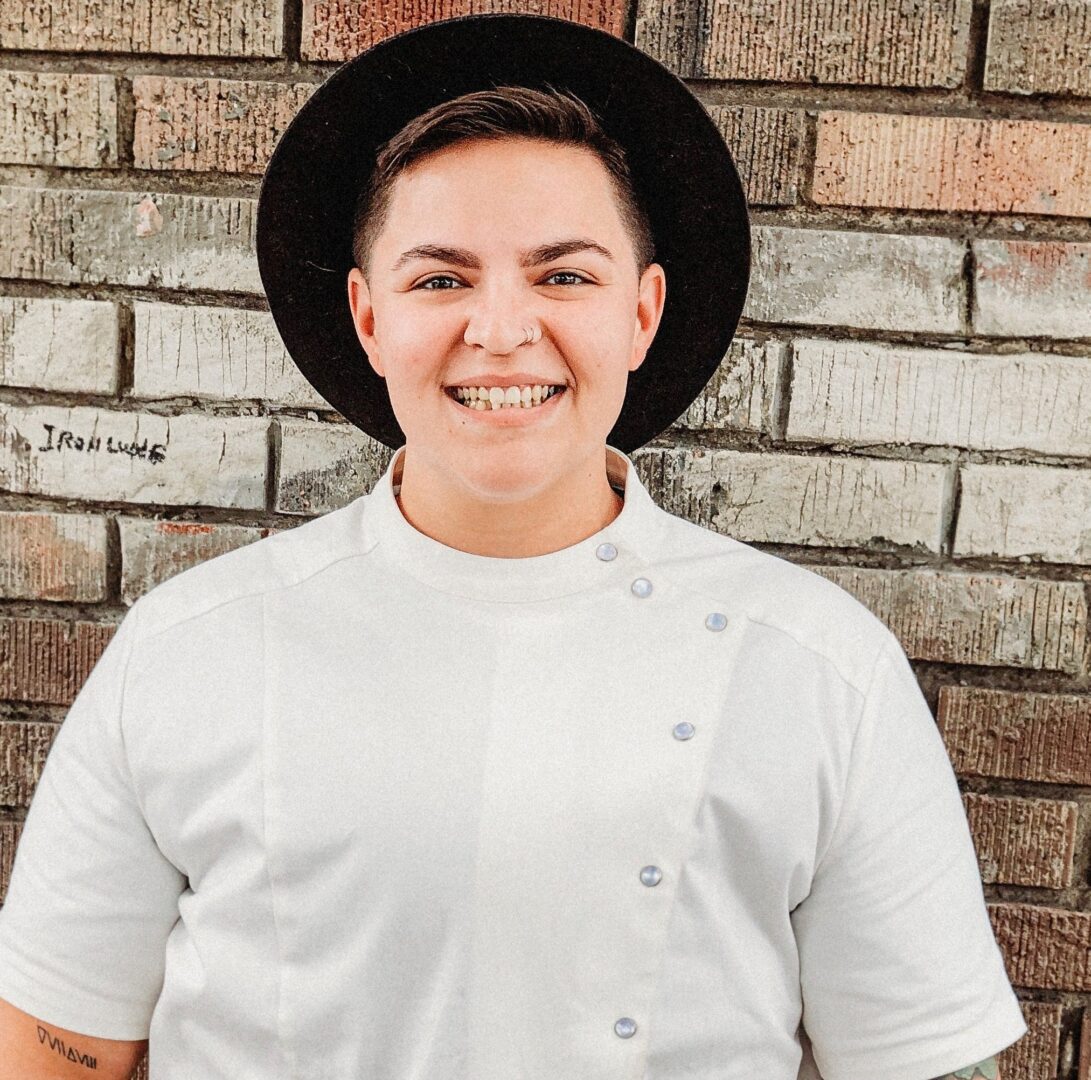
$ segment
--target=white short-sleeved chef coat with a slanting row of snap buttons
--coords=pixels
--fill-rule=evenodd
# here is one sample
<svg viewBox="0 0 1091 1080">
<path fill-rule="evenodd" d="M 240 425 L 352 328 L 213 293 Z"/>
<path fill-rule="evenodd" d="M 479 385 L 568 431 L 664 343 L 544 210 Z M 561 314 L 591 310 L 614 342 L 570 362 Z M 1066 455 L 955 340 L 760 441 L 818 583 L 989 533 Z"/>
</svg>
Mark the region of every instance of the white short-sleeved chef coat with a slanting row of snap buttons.
<svg viewBox="0 0 1091 1080">
<path fill-rule="evenodd" d="M 152 1080 L 924 1080 L 1027 1031 L 863 604 L 613 447 L 621 514 L 526 559 L 410 526 L 403 456 L 127 613 L 27 814 L 0 997 L 148 1037 Z"/>
</svg>

